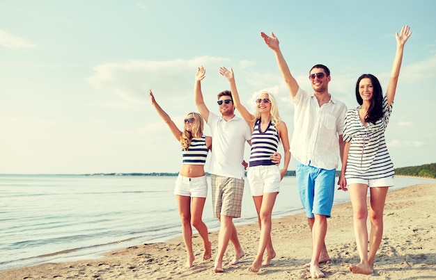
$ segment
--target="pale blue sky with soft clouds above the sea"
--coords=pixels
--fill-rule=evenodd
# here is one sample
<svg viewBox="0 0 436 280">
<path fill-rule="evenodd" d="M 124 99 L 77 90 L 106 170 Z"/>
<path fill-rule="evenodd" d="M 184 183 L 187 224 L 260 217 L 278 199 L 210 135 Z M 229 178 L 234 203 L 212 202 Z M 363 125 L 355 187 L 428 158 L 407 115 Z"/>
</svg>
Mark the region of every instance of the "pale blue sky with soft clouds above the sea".
<svg viewBox="0 0 436 280">
<path fill-rule="evenodd" d="M 233 67 L 244 105 L 271 92 L 291 136 L 294 108 L 261 31 L 279 38 L 301 88 L 327 65 L 329 92 L 354 108 L 361 74 L 386 90 L 405 24 L 387 145 L 395 167 L 435 163 L 435 10 L 433 0 L 1 1 L 0 174 L 178 172 L 180 145 L 148 89 L 182 129 L 201 65 L 210 111 L 229 89 L 219 67 Z"/>
</svg>

